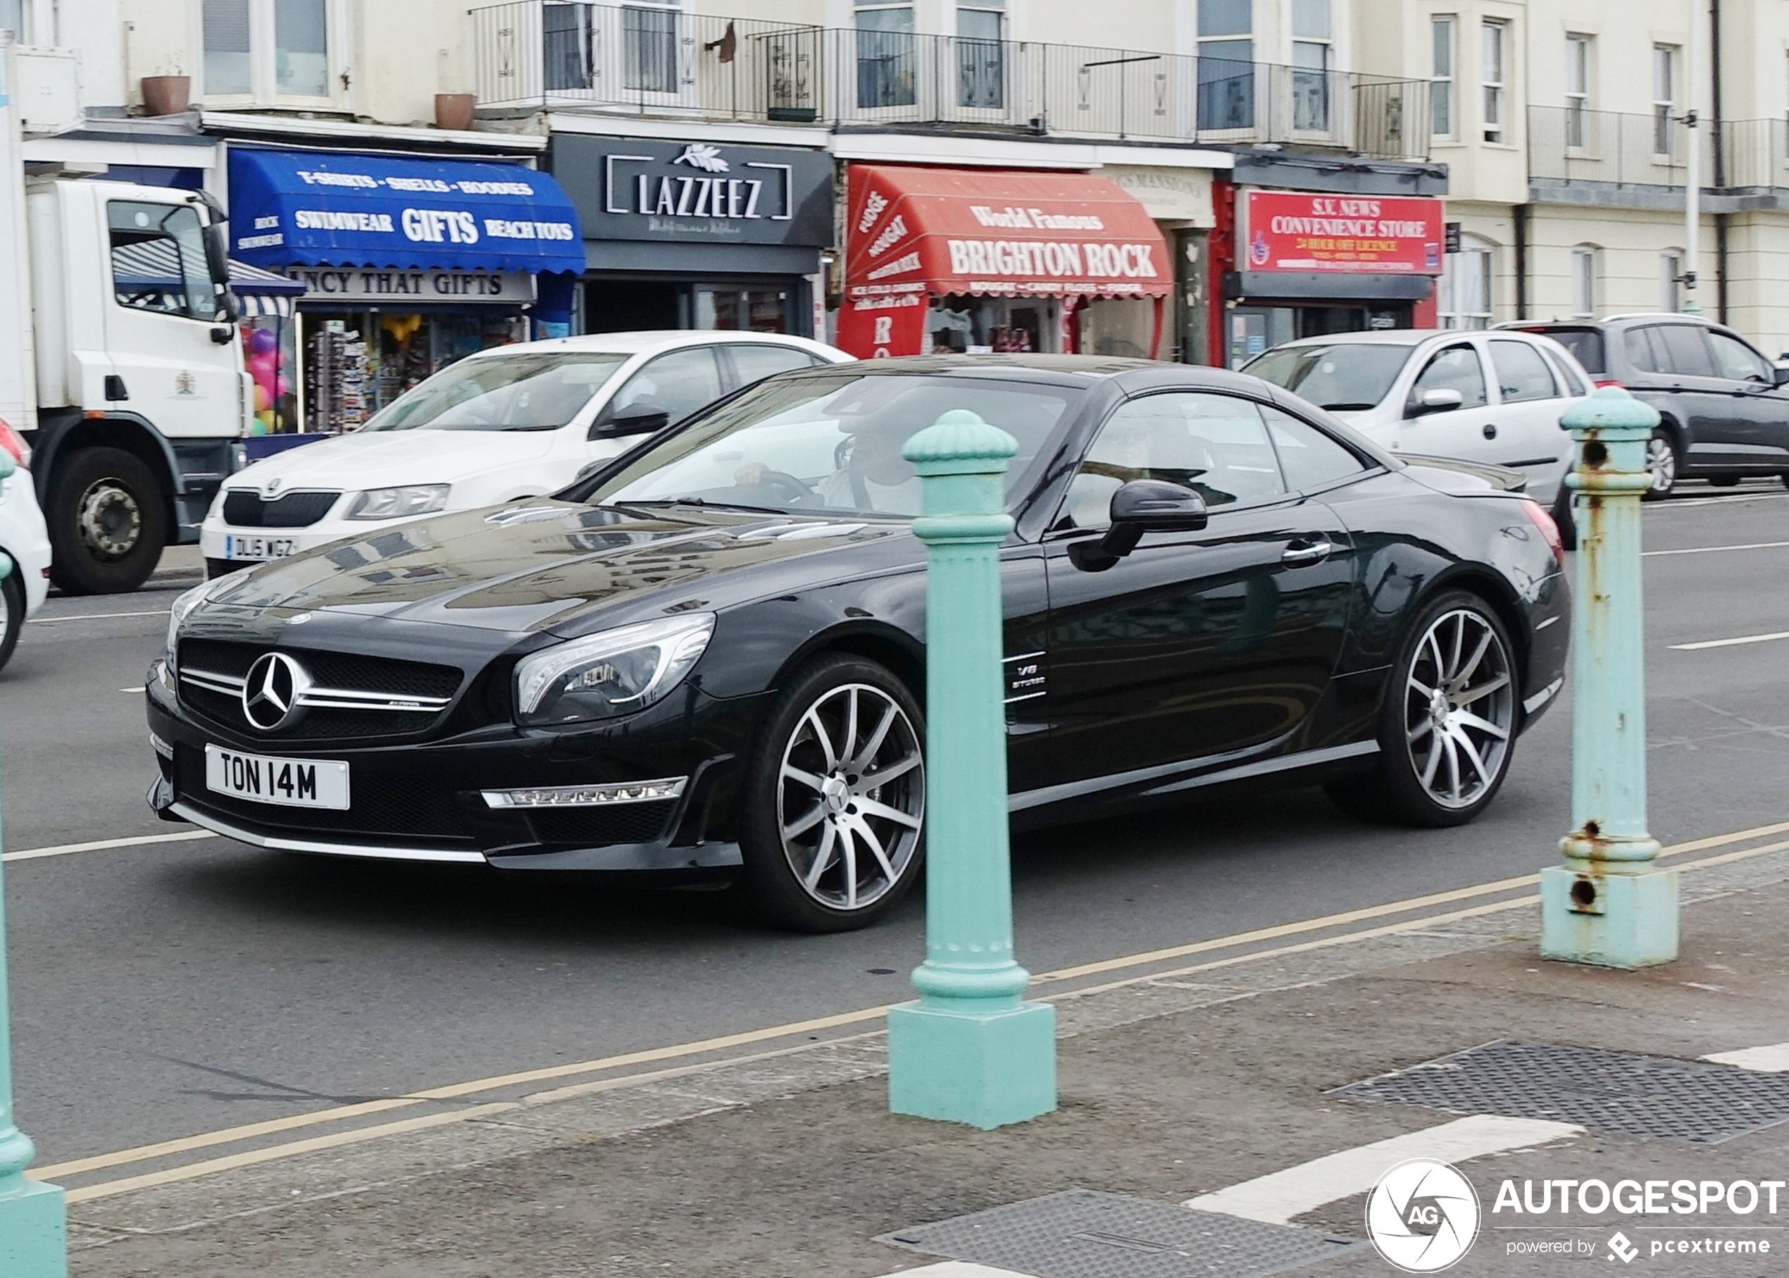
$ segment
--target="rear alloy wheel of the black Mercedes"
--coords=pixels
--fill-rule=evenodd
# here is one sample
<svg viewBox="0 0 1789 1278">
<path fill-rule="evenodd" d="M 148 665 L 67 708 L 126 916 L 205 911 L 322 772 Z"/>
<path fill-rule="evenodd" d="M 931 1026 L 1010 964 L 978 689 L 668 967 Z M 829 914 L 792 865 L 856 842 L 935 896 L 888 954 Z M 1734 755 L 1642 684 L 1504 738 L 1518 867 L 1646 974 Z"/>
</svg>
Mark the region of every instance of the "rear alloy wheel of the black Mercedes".
<svg viewBox="0 0 1789 1278">
<path fill-rule="evenodd" d="M 1404 684 L 1404 739 L 1422 789 L 1442 807 L 1471 807 L 1503 775 L 1513 736 L 1508 648 L 1480 612 L 1444 612 Z"/>
</svg>

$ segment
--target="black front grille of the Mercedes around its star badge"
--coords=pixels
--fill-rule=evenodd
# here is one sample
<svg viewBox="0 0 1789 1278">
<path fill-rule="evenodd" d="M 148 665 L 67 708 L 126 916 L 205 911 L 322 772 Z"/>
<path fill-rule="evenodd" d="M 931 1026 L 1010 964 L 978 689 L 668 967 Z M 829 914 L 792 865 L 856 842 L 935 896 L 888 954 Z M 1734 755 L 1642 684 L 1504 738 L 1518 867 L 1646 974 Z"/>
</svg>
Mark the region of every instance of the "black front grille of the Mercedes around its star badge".
<svg viewBox="0 0 1789 1278">
<path fill-rule="evenodd" d="M 186 639 L 181 643 L 179 668 L 182 671 L 206 671 L 242 678 L 249 673 L 256 657 L 265 652 L 272 650 L 259 644 L 225 643 L 218 639 Z M 460 691 L 460 682 L 465 678 L 458 666 L 435 666 L 420 660 L 395 660 L 392 657 L 363 657 L 347 652 L 309 652 L 302 648 L 284 648 L 283 652 L 295 657 L 317 684 L 358 693 L 451 698 Z M 265 734 L 250 727 L 247 716 L 242 712 L 242 698 L 234 693 L 199 687 L 190 678 L 181 678 L 181 702 L 215 723 L 227 725 L 234 732 L 256 737 L 265 736 L 270 741 L 404 736 L 422 732 L 442 718 L 440 711 L 313 707 L 297 723 L 276 734 Z"/>
</svg>

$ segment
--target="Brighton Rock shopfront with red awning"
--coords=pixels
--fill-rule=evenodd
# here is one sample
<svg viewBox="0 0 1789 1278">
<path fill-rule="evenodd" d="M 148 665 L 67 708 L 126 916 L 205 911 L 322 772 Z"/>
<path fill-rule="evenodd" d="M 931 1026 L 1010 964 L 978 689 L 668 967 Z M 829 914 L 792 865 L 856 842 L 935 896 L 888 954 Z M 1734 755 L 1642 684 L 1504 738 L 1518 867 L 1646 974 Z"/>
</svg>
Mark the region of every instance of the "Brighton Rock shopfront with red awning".
<svg viewBox="0 0 1789 1278">
<path fill-rule="evenodd" d="M 852 165 L 846 184 L 837 344 L 852 354 L 1161 351 L 1174 263 L 1116 184 L 909 165 Z M 1097 302 L 1118 302 L 1098 317 L 1104 344 Z"/>
</svg>

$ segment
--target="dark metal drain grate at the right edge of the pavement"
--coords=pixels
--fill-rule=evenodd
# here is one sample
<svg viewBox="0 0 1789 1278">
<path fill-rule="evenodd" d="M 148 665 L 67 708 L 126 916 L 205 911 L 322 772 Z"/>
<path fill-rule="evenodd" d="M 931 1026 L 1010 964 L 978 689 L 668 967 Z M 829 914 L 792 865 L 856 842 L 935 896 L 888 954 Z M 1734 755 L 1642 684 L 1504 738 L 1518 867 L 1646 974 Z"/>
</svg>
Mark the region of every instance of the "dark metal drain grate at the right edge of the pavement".
<svg viewBox="0 0 1789 1278">
<path fill-rule="evenodd" d="M 1705 1144 L 1789 1120 L 1789 1074 L 1508 1038 L 1331 1095 Z"/>
</svg>

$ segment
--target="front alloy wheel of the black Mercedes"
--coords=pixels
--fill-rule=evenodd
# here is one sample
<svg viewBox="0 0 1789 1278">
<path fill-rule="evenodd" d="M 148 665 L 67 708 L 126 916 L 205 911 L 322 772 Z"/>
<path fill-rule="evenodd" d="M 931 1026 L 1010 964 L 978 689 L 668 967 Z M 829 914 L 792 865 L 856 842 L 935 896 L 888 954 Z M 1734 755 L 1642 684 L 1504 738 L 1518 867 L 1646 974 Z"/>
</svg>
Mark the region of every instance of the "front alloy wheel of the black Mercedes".
<svg viewBox="0 0 1789 1278">
<path fill-rule="evenodd" d="M 796 720 L 776 780 L 776 827 L 796 882 L 830 909 L 864 909 L 920 850 L 925 761 L 880 687 L 827 689 Z"/>
</svg>

